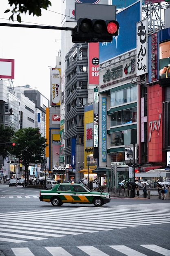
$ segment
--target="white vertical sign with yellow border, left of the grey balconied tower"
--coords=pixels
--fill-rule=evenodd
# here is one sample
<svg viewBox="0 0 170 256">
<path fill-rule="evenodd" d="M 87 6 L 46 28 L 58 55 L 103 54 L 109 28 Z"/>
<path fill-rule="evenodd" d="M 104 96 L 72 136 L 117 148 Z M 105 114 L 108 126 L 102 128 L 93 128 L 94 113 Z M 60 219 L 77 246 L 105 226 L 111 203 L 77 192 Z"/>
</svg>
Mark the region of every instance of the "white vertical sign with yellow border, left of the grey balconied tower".
<svg viewBox="0 0 170 256">
<path fill-rule="evenodd" d="M 51 68 L 51 106 L 60 106 L 60 68 Z"/>
</svg>

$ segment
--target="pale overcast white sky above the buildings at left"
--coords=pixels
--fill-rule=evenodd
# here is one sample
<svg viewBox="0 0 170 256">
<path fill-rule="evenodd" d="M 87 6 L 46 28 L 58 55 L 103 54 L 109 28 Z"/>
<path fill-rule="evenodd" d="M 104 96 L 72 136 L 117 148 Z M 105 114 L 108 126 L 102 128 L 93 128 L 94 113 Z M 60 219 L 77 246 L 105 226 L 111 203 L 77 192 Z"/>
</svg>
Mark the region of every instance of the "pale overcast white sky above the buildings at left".
<svg viewBox="0 0 170 256">
<path fill-rule="evenodd" d="M 4 11 L 11 7 L 8 0 L 0 0 L 0 23 L 61 27 L 62 0 L 50 1 L 52 7 L 42 10 L 42 16 L 21 14 L 19 23 L 16 17 L 14 22 L 9 22 L 12 13 Z M 0 58 L 15 60 L 14 89 L 28 84 L 50 99 L 50 67 L 55 67 L 60 49 L 60 30 L 0 26 Z"/>
</svg>

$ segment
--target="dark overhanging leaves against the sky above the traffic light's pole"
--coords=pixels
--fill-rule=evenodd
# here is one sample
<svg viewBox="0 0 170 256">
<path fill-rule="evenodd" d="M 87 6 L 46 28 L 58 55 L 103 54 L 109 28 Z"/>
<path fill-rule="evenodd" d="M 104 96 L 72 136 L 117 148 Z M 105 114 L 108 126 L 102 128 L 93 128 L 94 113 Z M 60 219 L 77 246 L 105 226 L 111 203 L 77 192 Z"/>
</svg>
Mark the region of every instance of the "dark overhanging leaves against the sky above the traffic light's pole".
<svg viewBox="0 0 170 256">
<path fill-rule="evenodd" d="M 51 6 L 49 0 L 8 0 L 8 2 L 13 9 L 8 9 L 5 13 L 10 11 L 13 13 L 9 17 L 9 20 L 11 19 L 12 21 L 14 14 L 16 14 L 18 22 L 21 22 L 20 13 L 26 13 L 28 11 L 29 15 L 33 13 L 33 16 L 41 16 L 41 8 L 47 9 L 49 5 Z"/>
</svg>

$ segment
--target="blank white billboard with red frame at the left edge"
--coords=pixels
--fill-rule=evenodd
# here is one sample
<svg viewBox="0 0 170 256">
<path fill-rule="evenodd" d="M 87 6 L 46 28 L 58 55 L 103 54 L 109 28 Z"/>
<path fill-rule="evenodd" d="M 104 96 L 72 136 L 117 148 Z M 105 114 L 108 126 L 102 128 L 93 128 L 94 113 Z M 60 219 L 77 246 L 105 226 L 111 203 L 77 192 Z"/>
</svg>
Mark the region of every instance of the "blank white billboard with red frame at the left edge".
<svg viewBox="0 0 170 256">
<path fill-rule="evenodd" d="M 14 60 L 0 58 L 0 78 L 14 79 Z"/>
</svg>

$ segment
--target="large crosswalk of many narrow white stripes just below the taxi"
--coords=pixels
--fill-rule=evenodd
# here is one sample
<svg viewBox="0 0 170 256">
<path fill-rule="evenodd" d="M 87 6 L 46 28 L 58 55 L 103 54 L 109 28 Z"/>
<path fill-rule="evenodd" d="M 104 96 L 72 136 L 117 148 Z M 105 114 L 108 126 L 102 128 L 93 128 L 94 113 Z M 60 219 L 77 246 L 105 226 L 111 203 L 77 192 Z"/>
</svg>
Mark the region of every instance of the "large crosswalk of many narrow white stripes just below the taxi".
<svg viewBox="0 0 170 256">
<path fill-rule="evenodd" d="M 162 208 L 164 208 L 163 215 L 159 210 Z M 145 204 L 145 207 L 144 204 L 111 207 L 61 206 L 52 209 L 0 213 L 0 219 L 3 220 L 0 222 L 0 244 L 24 243 L 29 240 L 168 224 L 170 204 Z"/>
</svg>

